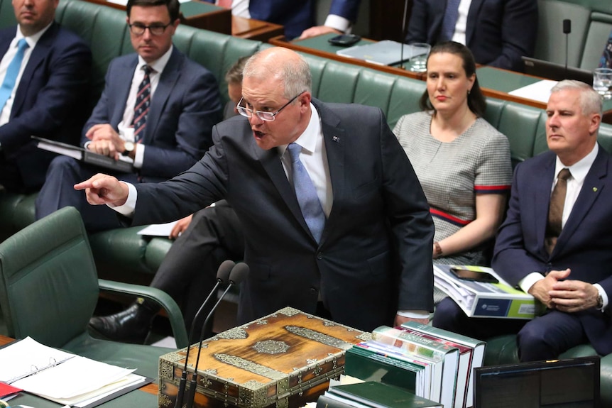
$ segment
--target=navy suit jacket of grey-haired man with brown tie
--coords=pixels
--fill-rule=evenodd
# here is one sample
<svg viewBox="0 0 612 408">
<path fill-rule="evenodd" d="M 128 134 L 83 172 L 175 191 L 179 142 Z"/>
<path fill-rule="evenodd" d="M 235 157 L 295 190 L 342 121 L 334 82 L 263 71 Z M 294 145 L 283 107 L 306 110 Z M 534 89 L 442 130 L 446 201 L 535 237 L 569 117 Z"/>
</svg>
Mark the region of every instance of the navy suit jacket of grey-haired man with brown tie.
<svg viewBox="0 0 612 408">
<path fill-rule="evenodd" d="M 531 272 L 571 268 L 568 279 L 599 283 L 612 295 L 612 157 L 599 154 L 550 255 L 544 246 L 555 155 L 542 153 L 516 167 L 506 221 L 496 240 L 493 269 L 510 285 Z M 589 341 L 612 352 L 612 321 L 595 309 L 578 314 Z"/>
</svg>

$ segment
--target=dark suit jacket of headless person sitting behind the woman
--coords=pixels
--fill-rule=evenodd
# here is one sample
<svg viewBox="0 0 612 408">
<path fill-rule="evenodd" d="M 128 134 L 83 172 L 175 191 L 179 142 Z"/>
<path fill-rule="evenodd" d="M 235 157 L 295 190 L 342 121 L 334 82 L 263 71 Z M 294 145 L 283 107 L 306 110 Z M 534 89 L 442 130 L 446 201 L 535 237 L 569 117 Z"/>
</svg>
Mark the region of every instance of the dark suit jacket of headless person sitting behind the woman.
<svg viewBox="0 0 612 408">
<path fill-rule="evenodd" d="M 414 0 L 408 43 L 440 38 L 447 0 Z M 537 0 L 472 0 L 466 24 L 466 45 L 476 62 L 523 71 L 523 55 L 533 55 L 537 33 Z"/>
</svg>

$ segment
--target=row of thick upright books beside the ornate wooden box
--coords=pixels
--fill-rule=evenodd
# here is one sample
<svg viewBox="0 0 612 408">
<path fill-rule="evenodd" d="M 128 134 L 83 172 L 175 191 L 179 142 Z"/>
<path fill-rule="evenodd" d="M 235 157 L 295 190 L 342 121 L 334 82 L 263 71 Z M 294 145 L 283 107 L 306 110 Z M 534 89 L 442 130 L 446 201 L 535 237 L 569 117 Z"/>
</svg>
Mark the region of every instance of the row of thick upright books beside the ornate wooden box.
<svg viewBox="0 0 612 408">
<path fill-rule="evenodd" d="M 381 326 L 372 340 L 346 351 L 345 373 L 403 387 L 444 408 L 473 405 L 472 373 L 481 367 L 483 341 L 424 324 Z"/>
</svg>

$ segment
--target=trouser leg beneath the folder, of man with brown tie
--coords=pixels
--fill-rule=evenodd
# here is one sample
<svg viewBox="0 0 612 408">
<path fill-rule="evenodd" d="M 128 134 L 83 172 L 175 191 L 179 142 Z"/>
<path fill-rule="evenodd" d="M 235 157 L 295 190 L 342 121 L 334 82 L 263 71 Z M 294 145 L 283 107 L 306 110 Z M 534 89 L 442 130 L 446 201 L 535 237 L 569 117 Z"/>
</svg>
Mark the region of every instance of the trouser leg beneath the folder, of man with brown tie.
<svg viewBox="0 0 612 408">
<path fill-rule="evenodd" d="M 437 304 L 433 326 L 464 336 L 486 340 L 502 334 L 518 333 L 525 320 L 481 319 L 468 317 L 463 310 L 447 297 Z"/>
</svg>

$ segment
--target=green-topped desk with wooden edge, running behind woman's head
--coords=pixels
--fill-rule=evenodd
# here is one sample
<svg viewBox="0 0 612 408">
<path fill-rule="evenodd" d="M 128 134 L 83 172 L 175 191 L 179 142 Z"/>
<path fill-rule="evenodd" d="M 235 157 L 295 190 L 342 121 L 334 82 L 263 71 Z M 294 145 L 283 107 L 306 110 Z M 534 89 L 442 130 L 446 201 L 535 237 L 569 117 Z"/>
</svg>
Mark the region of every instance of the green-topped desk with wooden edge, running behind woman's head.
<svg viewBox="0 0 612 408">
<path fill-rule="evenodd" d="M 353 65 L 373 68 L 374 70 L 387 72 L 389 74 L 425 80 L 424 73 L 410 72 L 398 66 L 377 65 L 364 60 L 356 60 L 354 58 L 337 55 L 336 51 L 340 48 L 329 44 L 327 41 L 333 36 L 334 34 L 324 34 L 313 38 L 306 38 L 305 40 L 287 41 L 284 36 L 280 35 L 278 37 L 271 38 L 268 42 L 272 45 L 290 48 L 295 51 L 300 51 L 301 53 L 317 55 L 330 60 L 337 60 L 339 62 L 347 62 Z M 361 42 L 356 43 L 356 45 L 364 45 L 369 42 L 372 42 L 372 40 L 364 38 L 361 40 Z M 532 77 L 530 75 L 521 74 L 520 72 L 501 70 L 499 68 L 486 66 L 479 67 L 476 70 L 476 73 L 478 75 L 482 92 L 486 97 L 502 99 L 504 101 L 513 101 L 519 104 L 534 106 L 538 109 L 546 109 L 546 104 L 544 102 L 508 94 L 508 92 L 513 89 L 518 89 L 520 87 L 533 84 L 540 81 L 542 78 Z M 612 101 L 605 101 L 603 104 L 603 110 L 603 121 L 605 123 L 612 123 Z"/>
</svg>

